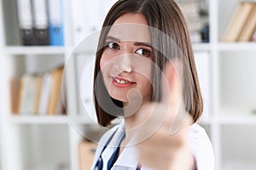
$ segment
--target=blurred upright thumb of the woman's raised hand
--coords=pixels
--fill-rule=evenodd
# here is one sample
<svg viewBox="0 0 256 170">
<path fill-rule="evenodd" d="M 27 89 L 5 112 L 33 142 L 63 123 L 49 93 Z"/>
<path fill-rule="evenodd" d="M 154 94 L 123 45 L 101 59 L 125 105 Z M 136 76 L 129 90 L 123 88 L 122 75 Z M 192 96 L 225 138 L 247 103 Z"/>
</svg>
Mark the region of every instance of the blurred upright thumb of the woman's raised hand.
<svg viewBox="0 0 256 170">
<path fill-rule="evenodd" d="M 183 83 L 180 77 L 182 77 L 181 62 L 178 60 L 167 62 L 162 78 L 161 95 L 162 103 L 169 107 L 166 122 L 172 124 L 169 131 L 171 135 L 177 133 L 184 124 L 188 125 L 192 122 L 183 103 Z"/>
</svg>

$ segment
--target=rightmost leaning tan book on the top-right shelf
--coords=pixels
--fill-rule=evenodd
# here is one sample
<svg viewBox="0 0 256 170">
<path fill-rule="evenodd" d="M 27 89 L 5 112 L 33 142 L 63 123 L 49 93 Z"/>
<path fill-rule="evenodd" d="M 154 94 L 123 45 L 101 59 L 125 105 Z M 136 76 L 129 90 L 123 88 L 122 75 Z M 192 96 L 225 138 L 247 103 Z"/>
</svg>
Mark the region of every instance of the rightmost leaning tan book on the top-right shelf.
<svg viewBox="0 0 256 170">
<path fill-rule="evenodd" d="M 253 37 L 253 32 L 256 30 L 256 3 L 252 4 L 253 9 L 247 17 L 245 25 L 237 38 L 239 42 L 248 42 Z"/>
</svg>

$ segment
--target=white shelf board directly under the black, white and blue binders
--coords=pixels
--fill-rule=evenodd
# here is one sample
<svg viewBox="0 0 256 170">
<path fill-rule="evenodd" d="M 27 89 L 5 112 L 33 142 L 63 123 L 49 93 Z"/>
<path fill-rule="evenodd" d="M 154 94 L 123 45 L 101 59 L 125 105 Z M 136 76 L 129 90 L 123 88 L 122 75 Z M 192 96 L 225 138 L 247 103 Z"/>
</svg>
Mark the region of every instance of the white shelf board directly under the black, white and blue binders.
<svg viewBox="0 0 256 170">
<path fill-rule="evenodd" d="M 64 47 L 47 47 L 47 46 L 34 46 L 34 47 L 21 47 L 21 46 L 8 46 L 5 48 L 5 53 L 10 55 L 25 55 L 25 54 L 65 54 Z"/>
</svg>

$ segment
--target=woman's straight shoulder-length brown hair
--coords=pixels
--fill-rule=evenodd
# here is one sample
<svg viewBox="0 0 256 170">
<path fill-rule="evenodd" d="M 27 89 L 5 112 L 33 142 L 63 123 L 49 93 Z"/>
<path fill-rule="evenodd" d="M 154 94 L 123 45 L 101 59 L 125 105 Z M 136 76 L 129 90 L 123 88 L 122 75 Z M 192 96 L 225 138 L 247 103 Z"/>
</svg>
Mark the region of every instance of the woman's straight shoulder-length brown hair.
<svg viewBox="0 0 256 170">
<path fill-rule="evenodd" d="M 189 39 L 189 32 L 177 3 L 172 0 L 119 0 L 109 10 L 104 20 L 96 53 L 94 99 L 98 123 L 105 127 L 110 125 L 112 120 L 117 116 L 122 115 L 122 110 L 109 108 L 110 111 L 116 112 L 116 116 L 114 116 L 102 109 L 102 105 L 104 105 L 104 107 L 112 107 L 113 104 L 121 108 L 122 102 L 116 99 L 108 101 L 107 98 L 110 98 L 110 96 L 102 79 L 100 60 L 104 50 L 102 47 L 104 47 L 105 38 L 108 35 L 110 27 L 115 20 L 127 13 L 143 14 L 148 21 L 149 27 L 155 28 L 167 35 L 160 36 L 154 29 L 150 30 L 152 46 L 157 48 L 157 50 L 153 49 L 153 62 L 163 70 L 166 64 L 165 54 L 170 54 L 172 58 L 177 58 L 182 61 L 183 103 L 186 111 L 189 112 L 194 122 L 196 122 L 203 110 L 201 90 L 195 69 L 195 60 Z M 170 42 L 170 38 L 172 38 L 172 42 Z M 182 55 L 175 54 L 175 52 L 171 50 L 173 49 L 173 42 L 175 42 L 175 46 L 177 46 Z M 157 92 L 157 90 L 160 91 L 160 75 L 161 72 L 153 67 L 152 86 L 154 90 L 152 92 L 151 101 L 160 101 L 160 92 Z M 96 81 L 97 78 L 99 81 Z"/>
</svg>

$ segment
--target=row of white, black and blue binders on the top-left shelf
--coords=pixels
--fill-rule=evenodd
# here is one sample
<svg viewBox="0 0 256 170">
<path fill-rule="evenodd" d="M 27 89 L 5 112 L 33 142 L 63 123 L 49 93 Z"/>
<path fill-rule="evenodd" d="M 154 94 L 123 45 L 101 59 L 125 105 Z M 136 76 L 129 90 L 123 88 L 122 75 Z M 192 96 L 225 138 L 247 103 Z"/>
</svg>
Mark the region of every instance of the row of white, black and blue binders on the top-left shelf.
<svg viewBox="0 0 256 170">
<path fill-rule="evenodd" d="M 22 45 L 63 46 L 62 0 L 17 0 Z"/>
</svg>

